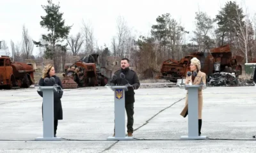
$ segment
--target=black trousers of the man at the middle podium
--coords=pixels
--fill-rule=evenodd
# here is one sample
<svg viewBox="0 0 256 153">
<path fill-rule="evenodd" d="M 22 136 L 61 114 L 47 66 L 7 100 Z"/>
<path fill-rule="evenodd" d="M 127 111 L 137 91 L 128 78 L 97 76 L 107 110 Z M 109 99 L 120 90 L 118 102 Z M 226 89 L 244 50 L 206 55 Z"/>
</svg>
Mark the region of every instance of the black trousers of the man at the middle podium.
<svg viewBox="0 0 256 153">
<path fill-rule="evenodd" d="M 127 132 L 133 133 L 133 115 L 134 115 L 134 103 L 125 104 L 125 111 L 127 115 Z M 115 120 L 114 120 L 115 122 Z M 115 133 L 115 127 L 114 127 L 114 133 Z"/>
</svg>

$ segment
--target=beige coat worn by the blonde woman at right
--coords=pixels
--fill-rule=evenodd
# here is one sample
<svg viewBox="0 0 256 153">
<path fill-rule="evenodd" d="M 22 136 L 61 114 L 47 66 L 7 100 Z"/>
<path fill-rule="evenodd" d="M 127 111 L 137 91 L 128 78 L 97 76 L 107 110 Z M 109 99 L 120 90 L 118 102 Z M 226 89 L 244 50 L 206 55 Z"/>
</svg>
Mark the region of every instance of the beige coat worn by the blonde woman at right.
<svg viewBox="0 0 256 153">
<path fill-rule="evenodd" d="M 202 71 L 198 71 L 195 80 L 193 82 L 193 85 L 199 85 L 202 82 L 205 84 L 206 83 L 206 77 L 205 77 L 205 73 Z M 192 76 L 190 77 L 186 77 L 185 80 L 185 84 L 189 84 L 189 82 L 192 82 Z M 198 119 L 202 119 L 202 108 L 203 108 L 203 92 L 202 89 L 198 89 Z M 188 110 L 188 92 L 186 94 L 186 103 L 185 103 L 185 107 L 182 110 L 182 112 L 180 113 L 180 115 L 184 116 L 185 113 Z M 186 116 L 184 116 L 186 117 Z"/>
</svg>

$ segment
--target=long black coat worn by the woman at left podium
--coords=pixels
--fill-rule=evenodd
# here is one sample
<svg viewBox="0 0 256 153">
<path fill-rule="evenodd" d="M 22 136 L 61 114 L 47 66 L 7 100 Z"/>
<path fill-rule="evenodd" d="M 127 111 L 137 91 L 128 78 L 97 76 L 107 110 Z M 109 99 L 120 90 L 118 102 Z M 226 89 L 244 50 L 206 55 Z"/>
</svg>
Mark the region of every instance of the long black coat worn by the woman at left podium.
<svg viewBox="0 0 256 153">
<path fill-rule="evenodd" d="M 53 76 L 55 78 L 56 84 L 60 85 L 62 88 L 61 80 L 57 76 Z M 50 78 L 47 76 L 47 78 Z M 40 86 L 53 86 L 55 82 L 44 82 L 44 78 L 40 78 L 39 80 L 39 85 Z M 37 91 L 38 94 L 43 97 L 43 92 L 42 91 Z M 62 113 L 62 106 L 61 106 L 61 98 L 63 95 L 63 91 L 54 91 L 54 120 L 62 120 L 63 119 L 63 113 Z M 42 107 L 42 112 L 43 112 L 43 107 Z"/>
</svg>

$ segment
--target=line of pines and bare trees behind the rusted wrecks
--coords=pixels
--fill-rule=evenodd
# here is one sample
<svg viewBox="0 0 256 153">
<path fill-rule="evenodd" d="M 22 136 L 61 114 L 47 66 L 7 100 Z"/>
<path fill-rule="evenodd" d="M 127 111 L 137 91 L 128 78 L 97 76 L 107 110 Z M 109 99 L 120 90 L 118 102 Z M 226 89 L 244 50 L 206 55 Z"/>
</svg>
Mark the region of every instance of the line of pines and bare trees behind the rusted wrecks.
<svg viewBox="0 0 256 153">
<path fill-rule="evenodd" d="M 235 1 L 225 3 L 214 18 L 207 15 L 207 12 L 195 12 L 196 28 L 192 32 L 187 31 L 170 13 L 164 13 L 156 18 L 150 36 L 136 38 L 125 18 L 118 17 L 116 36 L 111 38 L 110 47 L 98 46 L 93 27 L 84 20 L 81 31 L 70 34 L 72 25 L 65 25 L 60 3 L 54 4 L 47 0 L 42 8 L 46 15 L 41 16 L 40 25 L 48 33 L 42 34 L 41 40 L 32 40 L 28 29 L 23 26 L 22 41 L 15 44 L 11 40 L 15 61 L 22 60 L 18 57 L 52 59 L 58 71 L 70 55 L 84 57 L 97 53 L 100 54 L 102 64 L 107 62 L 108 56 L 115 59 L 128 57 L 131 66 L 139 73 L 144 73 L 147 69 L 159 71 L 161 63 L 166 59 L 179 60 L 191 52 L 209 52 L 211 48 L 227 44 L 234 55 L 244 57 L 244 62 L 252 61 L 256 55 L 256 18 L 252 20 L 248 10 L 243 10 Z M 193 38 L 186 40 L 189 33 L 193 33 Z M 40 48 L 40 54 L 36 57 L 32 55 L 34 45 Z"/>
</svg>

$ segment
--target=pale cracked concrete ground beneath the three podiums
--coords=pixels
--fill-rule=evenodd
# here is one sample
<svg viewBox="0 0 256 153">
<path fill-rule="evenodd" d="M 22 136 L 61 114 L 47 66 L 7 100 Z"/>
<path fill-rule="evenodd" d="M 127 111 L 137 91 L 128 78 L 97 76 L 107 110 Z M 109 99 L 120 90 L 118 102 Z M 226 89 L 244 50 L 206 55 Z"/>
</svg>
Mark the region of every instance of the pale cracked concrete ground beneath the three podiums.
<svg viewBox="0 0 256 153">
<path fill-rule="evenodd" d="M 157 83 L 154 83 L 157 84 Z M 142 86 L 143 87 L 143 84 Z M 0 152 L 255 152 L 256 88 L 208 87 L 204 91 L 202 135 L 188 135 L 180 115 L 186 91 L 178 87 L 135 91 L 134 140 L 107 141 L 113 135 L 114 93 L 106 87 L 65 89 L 61 99 L 61 141 L 41 142 L 42 98 L 36 88 L 0 91 Z"/>
</svg>

